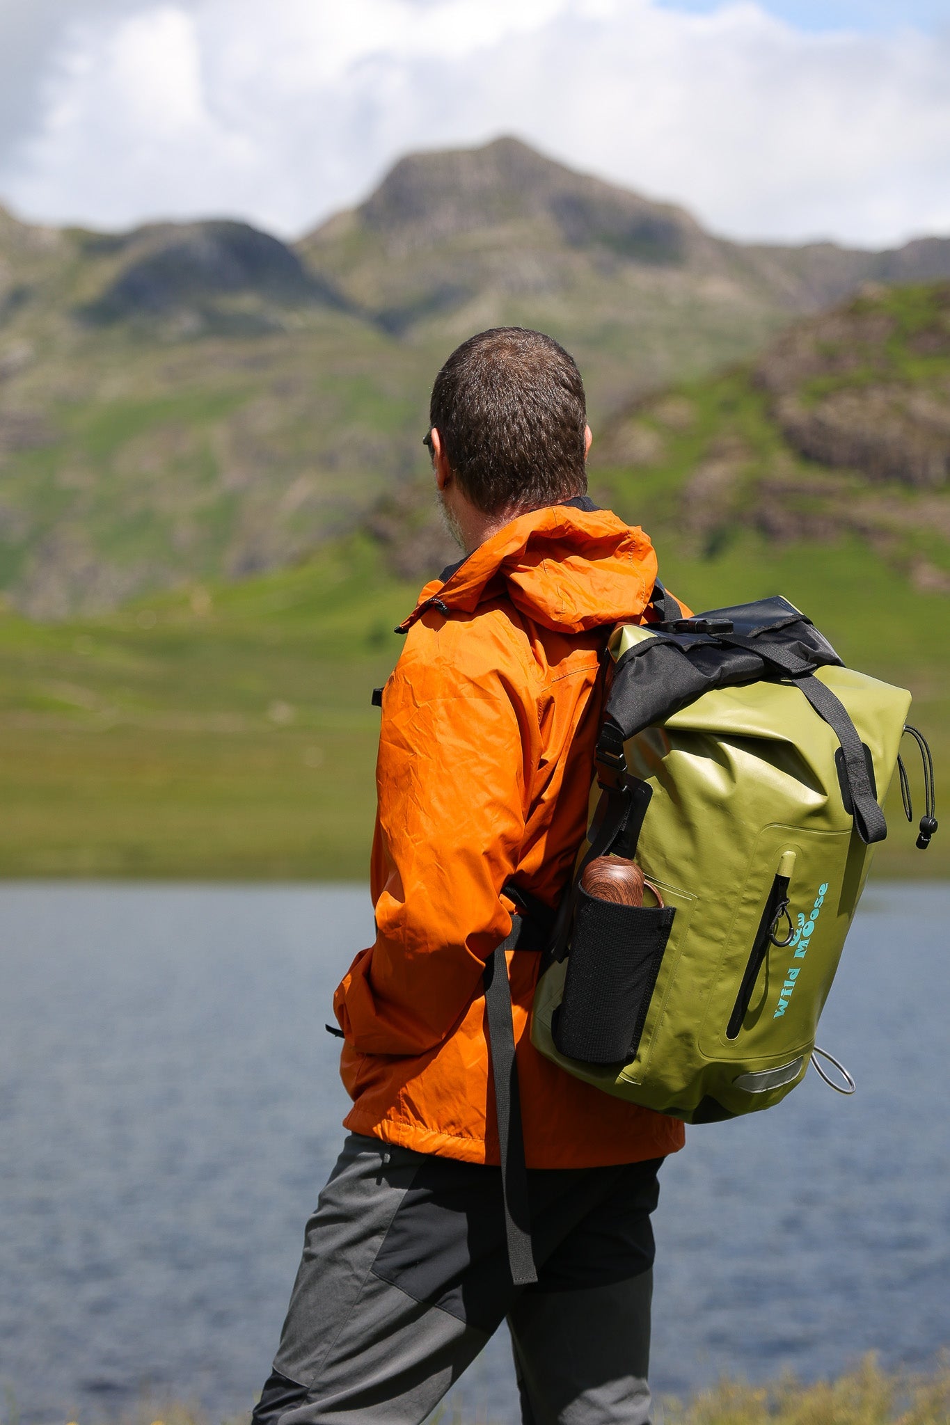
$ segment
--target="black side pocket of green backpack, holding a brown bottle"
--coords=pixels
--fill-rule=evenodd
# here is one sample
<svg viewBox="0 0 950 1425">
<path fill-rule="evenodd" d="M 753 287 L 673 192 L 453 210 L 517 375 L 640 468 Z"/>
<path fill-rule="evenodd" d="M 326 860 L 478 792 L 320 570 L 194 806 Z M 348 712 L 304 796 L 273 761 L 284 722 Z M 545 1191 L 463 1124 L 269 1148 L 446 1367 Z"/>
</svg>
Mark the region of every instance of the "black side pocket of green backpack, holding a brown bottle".
<svg viewBox="0 0 950 1425">
<path fill-rule="evenodd" d="M 564 998 L 551 1023 L 560 1053 L 591 1064 L 635 1056 L 675 913 L 614 905 L 578 886 Z"/>
</svg>

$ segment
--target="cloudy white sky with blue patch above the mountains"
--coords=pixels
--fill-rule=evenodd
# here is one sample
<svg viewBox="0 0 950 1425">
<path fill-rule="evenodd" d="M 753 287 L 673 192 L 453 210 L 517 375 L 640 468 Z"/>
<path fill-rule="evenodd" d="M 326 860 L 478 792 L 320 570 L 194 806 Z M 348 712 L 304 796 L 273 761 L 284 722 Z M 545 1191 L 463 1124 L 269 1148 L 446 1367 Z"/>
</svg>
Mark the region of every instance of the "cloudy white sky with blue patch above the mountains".
<svg viewBox="0 0 950 1425">
<path fill-rule="evenodd" d="M 516 134 L 728 237 L 950 234 L 950 0 L 0 0 L 0 201 L 296 237 Z"/>
</svg>

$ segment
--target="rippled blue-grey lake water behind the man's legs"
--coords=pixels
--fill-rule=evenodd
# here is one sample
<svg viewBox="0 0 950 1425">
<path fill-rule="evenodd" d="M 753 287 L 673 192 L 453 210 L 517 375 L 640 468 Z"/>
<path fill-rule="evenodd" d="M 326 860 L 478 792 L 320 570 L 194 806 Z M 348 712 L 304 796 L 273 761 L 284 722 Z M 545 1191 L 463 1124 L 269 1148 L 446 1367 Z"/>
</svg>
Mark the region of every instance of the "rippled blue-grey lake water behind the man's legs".
<svg viewBox="0 0 950 1425">
<path fill-rule="evenodd" d="M 872 886 L 809 1073 L 662 1173 L 652 1379 L 812 1378 L 950 1344 L 950 886 Z M 323 1032 L 350 888 L 0 886 L 0 1388 L 249 1408 L 346 1099 Z M 459 1387 L 516 1421 L 507 1342 Z M 484 1418 L 484 1414 L 481 1415 Z"/>
</svg>

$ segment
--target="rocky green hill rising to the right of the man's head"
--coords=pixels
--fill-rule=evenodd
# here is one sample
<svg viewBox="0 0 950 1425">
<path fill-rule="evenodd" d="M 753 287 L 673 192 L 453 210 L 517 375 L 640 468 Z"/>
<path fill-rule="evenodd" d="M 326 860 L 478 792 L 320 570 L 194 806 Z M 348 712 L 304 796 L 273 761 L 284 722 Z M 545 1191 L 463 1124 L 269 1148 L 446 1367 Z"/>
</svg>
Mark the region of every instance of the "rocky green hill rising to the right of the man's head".
<svg viewBox="0 0 950 1425">
<path fill-rule="evenodd" d="M 751 366 L 641 396 L 591 463 L 628 500 L 645 492 L 638 517 L 685 554 L 856 539 L 950 593 L 950 284 L 867 286 Z"/>
</svg>

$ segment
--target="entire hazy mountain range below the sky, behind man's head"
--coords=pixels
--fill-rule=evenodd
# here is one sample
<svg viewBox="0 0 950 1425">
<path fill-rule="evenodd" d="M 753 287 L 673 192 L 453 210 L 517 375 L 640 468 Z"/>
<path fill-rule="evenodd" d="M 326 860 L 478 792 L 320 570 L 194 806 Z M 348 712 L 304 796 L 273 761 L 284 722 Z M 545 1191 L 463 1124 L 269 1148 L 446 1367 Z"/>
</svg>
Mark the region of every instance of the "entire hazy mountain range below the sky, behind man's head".
<svg viewBox="0 0 950 1425">
<path fill-rule="evenodd" d="M 600 428 L 862 284 L 946 276 L 950 239 L 728 242 L 510 138 L 407 157 L 296 244 L 0 211 L 0 590 L 60 618 L 288 566 L 360 526 L 414 577 L 440 547 L 416 487 L 427 392 L 473 331 L 550 331 Z M 808 412 L 782 419 L 818 439 Z"/>
</svg>

